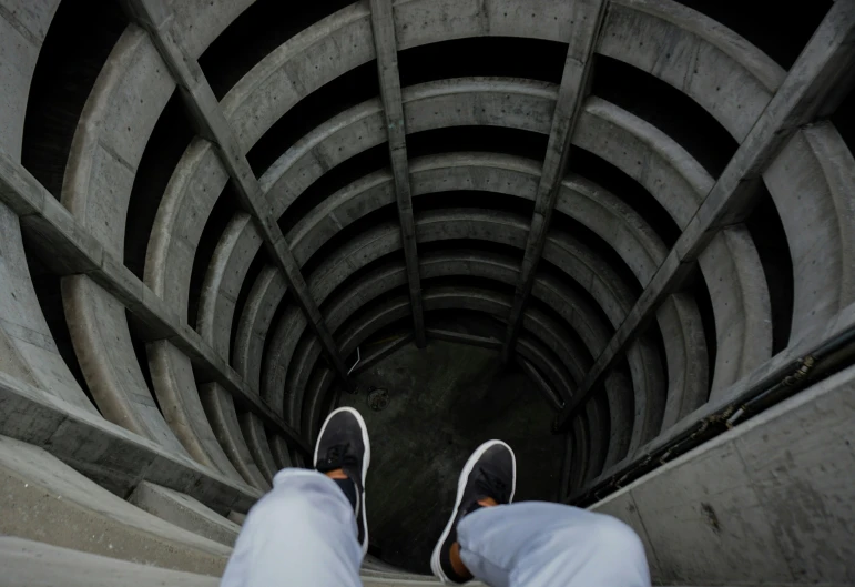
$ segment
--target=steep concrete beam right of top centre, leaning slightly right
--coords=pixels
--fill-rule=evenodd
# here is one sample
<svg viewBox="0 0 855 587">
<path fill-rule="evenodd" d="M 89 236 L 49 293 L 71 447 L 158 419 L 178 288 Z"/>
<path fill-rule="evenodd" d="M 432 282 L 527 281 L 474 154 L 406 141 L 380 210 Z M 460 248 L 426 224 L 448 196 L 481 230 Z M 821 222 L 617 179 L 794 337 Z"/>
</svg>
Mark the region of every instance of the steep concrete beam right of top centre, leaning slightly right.
<svg viewBox="0 0 855 587">
<path fill-rule="evenodd" d="M 593 49 L 605 12 L 605 0 L 586 0 L 573 2 L 571 10 L 570 45 L 567 50 L 564 71 L 561 74 L 558 101 L 552 115 L 552 126 L 549 131 L 547 155 L 543 161 L 538 192 L 535 196 L 535 213 L 531 216 L 531 227 L 522 256 L 519 282 L 508 317 L 508 332 L 501 350 L 501 361 L 505 364 L 510 361 L 517 345 L 517 338 L 522 327 L 522 313 L 531 297 L 535 275 L 543 254 L 552 211 L 567 169 L 570 138 L 588 93 L 588 78 L 593 62 Z"/>
</svg>

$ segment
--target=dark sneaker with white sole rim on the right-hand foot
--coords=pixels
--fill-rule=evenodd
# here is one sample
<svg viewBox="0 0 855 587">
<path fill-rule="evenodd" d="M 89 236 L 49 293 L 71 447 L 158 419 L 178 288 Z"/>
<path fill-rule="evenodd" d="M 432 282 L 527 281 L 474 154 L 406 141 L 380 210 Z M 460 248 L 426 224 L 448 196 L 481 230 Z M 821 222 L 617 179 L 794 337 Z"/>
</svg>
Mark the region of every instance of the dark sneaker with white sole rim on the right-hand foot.
<svg viewBox="0 0 855 587">
<path fill-rule="evenodd" d="M 517 490 L 517 459 L 511 447 L 501 441 L 489 441 L 479 446 L 466 462 L 457 483 L 457 502 L 451 517 L 442 530 L 430 568 L 442 583 L 466 583 L 451 567 L 451 545 L 457 542 L 457 525 L 464 516 L 484 506 L 479 499 L 492 497 L 497 504 L 513 502 Z"/>
</svg>

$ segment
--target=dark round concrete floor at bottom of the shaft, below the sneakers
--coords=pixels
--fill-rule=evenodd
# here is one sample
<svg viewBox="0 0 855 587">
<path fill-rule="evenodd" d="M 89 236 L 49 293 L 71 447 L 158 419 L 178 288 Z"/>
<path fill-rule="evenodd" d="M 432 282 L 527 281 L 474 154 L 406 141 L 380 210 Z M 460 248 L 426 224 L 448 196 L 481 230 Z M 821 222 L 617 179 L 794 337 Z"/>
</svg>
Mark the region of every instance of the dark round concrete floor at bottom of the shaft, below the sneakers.
<svg viewBox="0 0 855 587">
<path fill-rule="evenodd" d="M 517 500 L 552 499 L 563 446 L 550 433 L 553 413 L 498 353 L 430 341 L 408 345 L 359 376 L 359 395 L 339 405 L 359 409 L 371 438 L 366 482 L 371 553 L 399 568 L 430 573 L 430 553 L 454 505 L 469 454 L 490 438 L 517 454 Z M 381 412 L 367 386 L 389 391 Z"/>
</svg>

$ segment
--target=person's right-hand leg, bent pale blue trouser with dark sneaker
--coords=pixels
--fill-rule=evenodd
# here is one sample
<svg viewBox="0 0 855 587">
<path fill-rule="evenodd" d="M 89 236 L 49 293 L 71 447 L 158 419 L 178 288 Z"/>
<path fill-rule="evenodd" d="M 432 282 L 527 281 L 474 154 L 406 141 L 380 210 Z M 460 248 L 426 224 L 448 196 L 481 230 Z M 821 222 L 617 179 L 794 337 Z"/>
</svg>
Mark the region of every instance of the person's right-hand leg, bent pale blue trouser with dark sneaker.
<svg viewBox="0 0 855 587">
<path fill-rule="evenodd" d="M 490 587 L 649 587 L 644 548 L 610 516 L 531 502 L 509 505 L 516 461 L 505 443 L 481 445 L 467 462 L 451 517 L 434 549 L 442 583 L 472 577 Z"/>
</svg>

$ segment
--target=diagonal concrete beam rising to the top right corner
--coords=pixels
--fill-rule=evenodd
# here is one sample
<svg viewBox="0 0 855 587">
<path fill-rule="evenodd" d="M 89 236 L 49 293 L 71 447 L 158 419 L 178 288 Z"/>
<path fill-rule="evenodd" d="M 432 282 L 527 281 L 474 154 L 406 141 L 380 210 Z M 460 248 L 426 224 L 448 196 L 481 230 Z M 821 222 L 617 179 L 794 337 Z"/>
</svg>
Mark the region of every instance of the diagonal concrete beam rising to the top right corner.
<svg viewBox="0 0 855 587">
<path fill-rule="evenodd" d="M 602 376 L 655 316 L 710 241 L 722 230 L 745 220 L 754 208 L 762 173 L 801 126 L 828 115 L 855 81 L 855 2 L 835 2 L 781 88 L 745 136 L 719 180 L 678 239 L 676 244 L 642 292 L 635 306 L 612 336 L 577 394 L 559 415 L 556 427 L 567 428 Z"/>
</svg>

